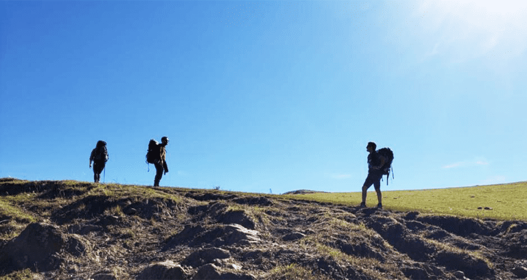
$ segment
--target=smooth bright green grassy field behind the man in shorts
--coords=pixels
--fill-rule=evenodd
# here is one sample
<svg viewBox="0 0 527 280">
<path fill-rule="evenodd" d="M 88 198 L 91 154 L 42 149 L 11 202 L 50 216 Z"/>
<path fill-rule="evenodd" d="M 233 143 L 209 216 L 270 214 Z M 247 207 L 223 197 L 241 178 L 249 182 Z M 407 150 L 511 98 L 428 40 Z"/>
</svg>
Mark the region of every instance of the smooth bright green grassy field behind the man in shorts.
<svg viewBox="0 0 527 280">
<path fill-rule="evenodd" d="M 361 192 L 318 192 L 287 197 L 358 205 L 362 194 Z M 397 211 L 419 211 L 498 220 L 527 220 L 527 181 L 465 188 L 395 190 L 382 192 L 382 197 L 382 205 L 385 209 Z M 377 205 L 375 192 L 368 192 L 366 204 L 371 207 Z M 492 209 L 486 210 L 484 207 Z"/>
</svg>

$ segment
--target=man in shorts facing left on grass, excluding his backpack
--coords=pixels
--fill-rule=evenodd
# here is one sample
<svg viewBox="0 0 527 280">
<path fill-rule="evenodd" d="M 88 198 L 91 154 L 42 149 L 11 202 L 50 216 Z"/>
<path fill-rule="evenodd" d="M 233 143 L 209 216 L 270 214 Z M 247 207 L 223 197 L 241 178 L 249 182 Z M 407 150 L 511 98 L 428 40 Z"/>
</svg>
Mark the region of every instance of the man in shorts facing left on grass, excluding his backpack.
<svg viewBox="0 0 527 280">
<path fill-rule="evenodd" d="M 381 168 L 386 163 L 386 159 L 382 155 L 379 155 L 375 149 L 377 149 L 377 144 L 368 142 L 368 146 L 366 146 L 366 150 L 370 153 L 368 155 L 368 177 L 366 177 L 366 181 L 362 185 L 362 203 L 360 203 L 360 207 L 366 207 L 366 192 L 373 185 L 375 192 L 377 192 L 377 199 L 379 200 L 377 208 L 382 209 L 381 178 L 383 172 Z"/>
</svg>

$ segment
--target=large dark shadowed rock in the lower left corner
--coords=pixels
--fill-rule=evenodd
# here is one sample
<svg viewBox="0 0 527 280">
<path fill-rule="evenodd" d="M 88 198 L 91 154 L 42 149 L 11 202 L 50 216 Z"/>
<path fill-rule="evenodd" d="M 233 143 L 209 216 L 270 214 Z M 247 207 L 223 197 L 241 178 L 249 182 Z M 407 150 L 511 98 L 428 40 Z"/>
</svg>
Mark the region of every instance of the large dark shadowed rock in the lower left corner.
<svg viewBox="0 0 527 280">
<path fill-rule="evenodd" d="M 0 252 L 0 264 L 3 264 L 1 270 L 58 269 L 63 262 L 58 253 L 66 242 L 65 234 L 56 225 L 34 222 L 5 244 Z"/>
</svg>

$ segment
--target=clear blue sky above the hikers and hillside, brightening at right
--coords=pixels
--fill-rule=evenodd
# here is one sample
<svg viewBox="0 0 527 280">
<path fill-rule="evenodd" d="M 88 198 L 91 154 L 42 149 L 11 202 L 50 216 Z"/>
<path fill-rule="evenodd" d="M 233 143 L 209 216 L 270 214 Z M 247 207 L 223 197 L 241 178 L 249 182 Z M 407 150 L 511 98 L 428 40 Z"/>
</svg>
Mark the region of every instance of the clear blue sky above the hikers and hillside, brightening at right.
<svg viewBox="0 0 527 280">
<path fill-rule="evenodd" d="M 358 192 L 527 180 L 527 1 L 0 1 L 0 177 Z M 386 177 L 385 177 L 386 178 Z"/>
</svg>

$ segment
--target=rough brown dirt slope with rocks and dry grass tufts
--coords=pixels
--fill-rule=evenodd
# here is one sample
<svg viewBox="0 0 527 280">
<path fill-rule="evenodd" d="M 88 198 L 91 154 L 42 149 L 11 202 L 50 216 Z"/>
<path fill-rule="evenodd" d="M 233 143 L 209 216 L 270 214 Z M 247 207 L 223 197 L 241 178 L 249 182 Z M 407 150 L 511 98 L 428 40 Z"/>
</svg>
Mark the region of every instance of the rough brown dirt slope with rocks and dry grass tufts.
<svg viewBox="0 0 527 280">
<path fill-rule="evenodd" d="M 522 221 L 75 181 L 0 179 L 0 198 L 0 277 L 527 277 Z"/>
</svg>

